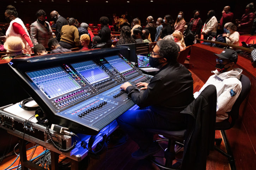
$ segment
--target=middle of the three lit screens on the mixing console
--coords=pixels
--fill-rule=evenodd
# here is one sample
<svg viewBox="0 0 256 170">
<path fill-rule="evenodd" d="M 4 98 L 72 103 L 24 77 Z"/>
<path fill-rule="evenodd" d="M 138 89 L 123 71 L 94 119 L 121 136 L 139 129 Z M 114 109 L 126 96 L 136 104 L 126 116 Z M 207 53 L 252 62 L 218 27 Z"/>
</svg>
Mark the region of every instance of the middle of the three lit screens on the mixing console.
<svg viewBox="0 0 256 170">
<path fill-rule="evenodd" d="M 92 60 L 71 65 L 89 84 L 109 78 L 108 74 L 101 70 Z"/>
</svg>

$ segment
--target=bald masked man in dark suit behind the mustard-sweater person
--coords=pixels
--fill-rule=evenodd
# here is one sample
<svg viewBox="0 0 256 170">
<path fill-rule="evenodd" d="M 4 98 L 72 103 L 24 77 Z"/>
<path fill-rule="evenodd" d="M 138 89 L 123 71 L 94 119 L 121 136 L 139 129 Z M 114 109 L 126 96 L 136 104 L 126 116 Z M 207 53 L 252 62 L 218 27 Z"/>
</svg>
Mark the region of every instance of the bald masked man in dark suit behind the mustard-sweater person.
<svg viewBox="0 0 256 170">
<path fill-rule="evenodd" d="M 54 21 L 56 21 L 56 39 L 58 41 L 60 41 L 60 32 L 61 32 L 61 28 L 64 25 L 68 25 L 68 21 L 61 17 L 60 14 L 57 11 L 52 11 L 50 13 L 51 19 L 53 19 Z"/>
</svg>

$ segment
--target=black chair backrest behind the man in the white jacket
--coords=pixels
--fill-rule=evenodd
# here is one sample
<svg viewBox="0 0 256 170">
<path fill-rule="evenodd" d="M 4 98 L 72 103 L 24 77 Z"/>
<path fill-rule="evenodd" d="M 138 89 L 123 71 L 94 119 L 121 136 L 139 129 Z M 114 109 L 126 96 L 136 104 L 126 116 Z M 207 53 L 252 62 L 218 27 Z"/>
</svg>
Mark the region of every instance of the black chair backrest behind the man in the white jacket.
<svg viewBox="0 0 256 170">
<path fill-rule="evenodd" d="M 241 75 L 240 81 L 242 83 L 242 90 L 234 103 L 232 109 L 230 112 L 228 112 L 228 115 L 232 118 L 232 122 L 230 123 L 230 128 L 234 126 L 236 120 L 238 119 L 239 116 L 239 107 L 246 98 L 247 94 L 250 91 L 251 87 L 251 81 L 248 77 L 246 77 L 244 74 Z M 228 129 L 230 129 L 228 128 Z"/>
</svg>

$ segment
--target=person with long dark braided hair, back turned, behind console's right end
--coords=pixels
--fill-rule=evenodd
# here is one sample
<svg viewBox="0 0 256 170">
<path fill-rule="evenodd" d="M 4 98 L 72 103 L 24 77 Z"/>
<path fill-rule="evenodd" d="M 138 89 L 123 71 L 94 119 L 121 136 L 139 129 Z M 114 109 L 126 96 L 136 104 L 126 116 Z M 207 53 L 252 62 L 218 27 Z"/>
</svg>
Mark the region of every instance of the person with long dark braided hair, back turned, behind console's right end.
<svg viewBox="0 0 256 170">
<path fill-rule="evenodd" d="M 136 43 L 136 41 L 133 39 L 131 35 L 131 29 L 128 26 L 123 26 L 121 29 L 120 39 L 116 43 L 116 45 L 120 44 L 133 44 Z"/>
</svg>

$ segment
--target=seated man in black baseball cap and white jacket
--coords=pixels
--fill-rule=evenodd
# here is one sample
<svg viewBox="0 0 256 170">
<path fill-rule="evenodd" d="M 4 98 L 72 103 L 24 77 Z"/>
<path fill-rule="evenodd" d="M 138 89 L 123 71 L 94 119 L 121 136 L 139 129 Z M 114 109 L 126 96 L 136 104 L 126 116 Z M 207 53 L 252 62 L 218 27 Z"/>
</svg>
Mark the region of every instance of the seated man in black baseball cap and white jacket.
<svg viewBox="0 0 256 170">
<path fill-rule="evenodd" d="M 194 97 L 197 98 L 208 85 L 214 85 L 217 89 L 216 122 L 222 122 L 228 118 L 227 112 L 231 111 L 241 92 L 242 84 L 239 79 L 243 70 L 233 68 L 234 64 L 237 63 L 236 51 L 226 49 L 220 54 L 215 55 L 218 58 L 216 59 L 216 70 L 212 71 L 214 75 L 209 77 L 199 92 L 194 93 Z"/>
</svg>

